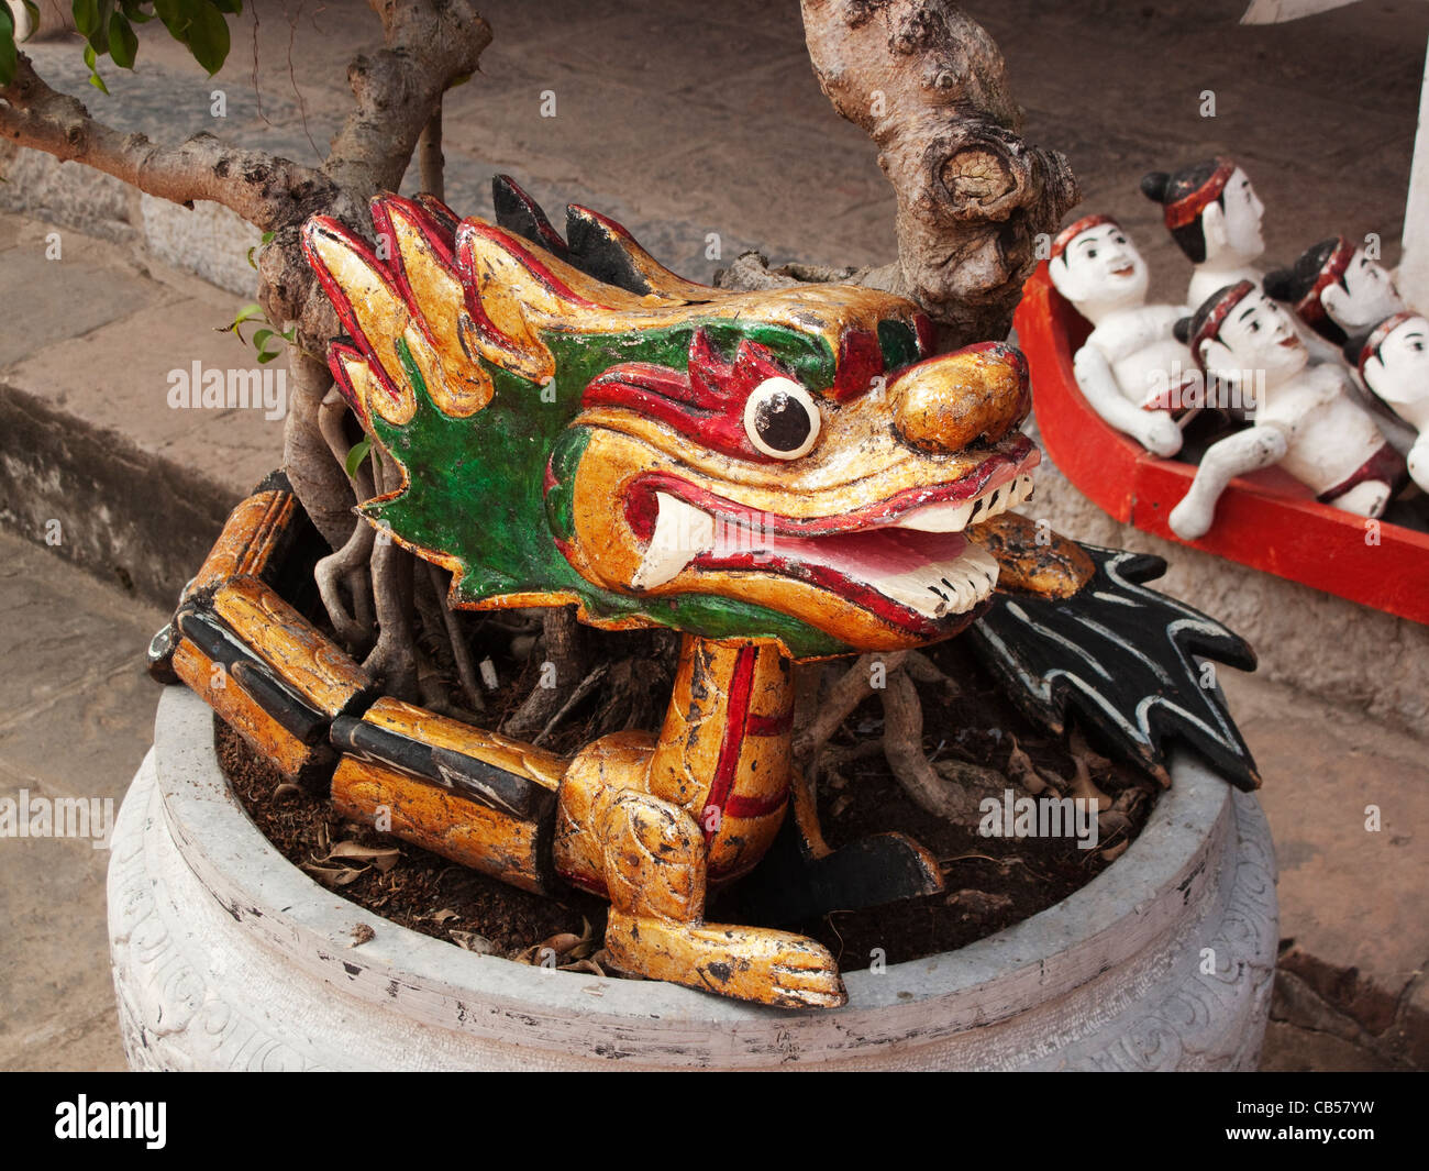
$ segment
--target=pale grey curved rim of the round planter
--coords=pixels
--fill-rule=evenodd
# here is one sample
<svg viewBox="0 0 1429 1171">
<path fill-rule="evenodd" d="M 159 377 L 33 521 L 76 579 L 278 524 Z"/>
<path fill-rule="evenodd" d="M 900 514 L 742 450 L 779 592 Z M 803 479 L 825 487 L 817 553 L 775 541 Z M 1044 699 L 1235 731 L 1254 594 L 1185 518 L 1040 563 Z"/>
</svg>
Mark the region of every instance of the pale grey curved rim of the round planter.
<svg viewBox="0 0 1429 1171">
<path fill-rule="evenodd" d="M 956 952 L 892 962 L 882 974 L 849 972 L 843 1009 L 790 1012 L 476 955 L 349 902 L 287 862 L 253 825 L 219 768 L 213 713 L 184 688 L 160 699 L 154 772 L 167 829 L 201 885 L 310 975 L 369 1002 L 394 995 L 396 985 L 420 989 L 419 1021 L 440 1028 L 470 1029 L 474 995 L 507 1015 L 576 1018 L 597 1051 L 602 1035 L 649 1044 L 674 1022 L 707 1025 L 712 1037 L 726 1037 L 722 1051 L 749 1055 L 776 1024 L 820 1048 L 867 1052 L 1005 1021 L 1166 951 L 1225 898 L 1209 861 L 1233 848 L 1236 832 L 1230 786 L 1198 759 L 1176 758 L 1173 785 L 1137 839 L 1069 898 Z M 362 925 L 373 937 L 354 948 Z"/>
</svg>

